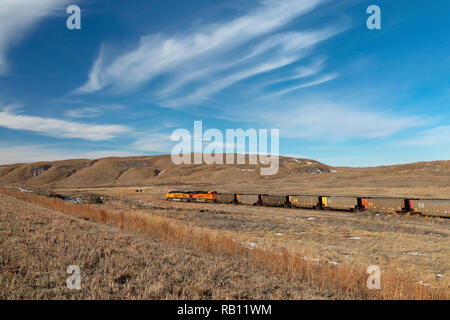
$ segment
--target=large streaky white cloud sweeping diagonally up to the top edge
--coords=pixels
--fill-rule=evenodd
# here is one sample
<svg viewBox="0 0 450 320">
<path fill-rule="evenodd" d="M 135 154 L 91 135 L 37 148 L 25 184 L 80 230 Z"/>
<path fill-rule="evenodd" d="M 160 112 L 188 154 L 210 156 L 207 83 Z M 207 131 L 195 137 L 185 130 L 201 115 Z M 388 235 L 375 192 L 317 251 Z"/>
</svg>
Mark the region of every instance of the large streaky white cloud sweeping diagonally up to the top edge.
<svg viewBox="0 0 450 320">
<path fill-rule="evenodd" d="M 196 85 L 194 93 L 187 97 L 194 103 L 264 72 L 264 67 L 276 65 L 275 61 L 280 66 L 287 59 L 293 62 L 305 54 L 302 50 L 342 31 L 342 28 L 323 28 L 273 35 L 322 2 L 265 0 L 257 10 L 231 21 L 196 26 L 174 36 L 144 36 L 133 50 L 119 55 L 112 53 L 116 50 L 103 46 L 89 80 L 76 92 L 91 93 L 106 88 L 123 92 L 166 75 L 172 80 L 158 84 L 156 98 L 162 98 L 163 105 L 173 106 L 173 101 L 178 101 L 175 93 L 180 87 Z M 183 93 L 178 96 L 183 97 Z M 168 103 L 164 101 L 166 98 Z"/>
</svg>

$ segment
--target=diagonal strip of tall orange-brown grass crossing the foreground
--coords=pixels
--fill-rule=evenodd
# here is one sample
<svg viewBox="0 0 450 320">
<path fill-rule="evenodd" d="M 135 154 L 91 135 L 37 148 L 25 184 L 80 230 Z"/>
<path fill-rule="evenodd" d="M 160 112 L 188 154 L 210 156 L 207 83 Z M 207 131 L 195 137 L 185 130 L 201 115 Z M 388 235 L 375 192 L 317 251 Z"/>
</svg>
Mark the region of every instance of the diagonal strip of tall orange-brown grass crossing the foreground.
<svg viewBox="0 0 450 320">
<path fill-rule="evenodd" d="M 369 290 L 368 274 L 363 266 L 340 266 L 305 259 L 297 250 L 247 248 L 235 241 L 236 234 L 208 228 L 199 228 L 140 211 L 123 213 L 103 210 L 85 204 L 74 204 L 13 189 L 0 188 L 0 193 L 32 202 L 43 207 L 86 220 L 108 223 L 130 231 L 140 231 L 185 247 L 217 255 L 241 256 L 268 273 L 286 280 L 300 280 L 323 290 L 336 292 L 338 296 L 353 299 L 450 299 L 445 286 L 427 287 L 417 283 L 413 274 L 384 271 L 380 290 Z"/>
</svg>

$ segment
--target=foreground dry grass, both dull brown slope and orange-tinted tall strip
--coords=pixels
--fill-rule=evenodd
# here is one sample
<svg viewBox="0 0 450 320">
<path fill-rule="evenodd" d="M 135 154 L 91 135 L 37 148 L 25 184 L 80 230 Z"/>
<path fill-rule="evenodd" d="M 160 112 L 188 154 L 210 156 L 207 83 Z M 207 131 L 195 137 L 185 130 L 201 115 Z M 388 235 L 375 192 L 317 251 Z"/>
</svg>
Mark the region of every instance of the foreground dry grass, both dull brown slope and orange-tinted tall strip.
<svg viewBox="0 0 450 320">
<path fill-rule="evenodd" d="M 417 282 L 417 272 L 385 268 L 381 290 L 369 290 L 365 266 L 314 259 L 304 251 L 280 247 L 270 237 L 267 246 L 248 247 L 244 231 L 193 225 L 132 207 L 118 210 L 113 208 L 118 205 L 114 201 L 96 208 L 15 190 L 1 192 L 6 194 L 0 198 L 1 232 L 6 241 L 1 245 L 0 264 L 5 271 L 0 282 L 4 298 L 450 298 L 446 278 L 423 285 Z M 142 250 L 147 246 L 149 250 Z M 150 250 L 155 246 L 169 255 L 171 266 Z M 116 255 L 109 259 L 113 252 Z M 65 265 L 73 261 L 89 275 L 86 288 L 75 296 L 63 282 Z M 150 262 L 159 266 L 157 271 L 147 269 Z M 223 277 L 245 279 L 246 284 L 217 283 L 217 268 Z M 167 270 L 177 280 L 161 277 Z M 128 286 L 121 286 L 125 283 Z"/>
</svg>

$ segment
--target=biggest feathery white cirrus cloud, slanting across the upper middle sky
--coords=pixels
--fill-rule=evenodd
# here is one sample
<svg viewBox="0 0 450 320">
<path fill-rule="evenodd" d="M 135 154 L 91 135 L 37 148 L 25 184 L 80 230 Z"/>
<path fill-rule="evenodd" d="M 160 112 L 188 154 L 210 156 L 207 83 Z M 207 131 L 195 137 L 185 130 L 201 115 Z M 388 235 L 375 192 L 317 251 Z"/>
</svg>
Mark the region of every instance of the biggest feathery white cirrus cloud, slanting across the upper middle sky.
<svg viewBox="0 0 450 320">
<path fill-rule="evenodd" d="M 119 55 L 102 47 L 88 81 L 76 92 L 91 93 L 108 87 L 124 91 L 167 73 L 174 73 L 177 78 L 180 72 L 184 72 L 183 77 L 186 79 L 207 80 L 211 74 L 223 70 L 223 66 L 233 67 L 236 63 L 260 56 L 261 53 L 269 53 L 274 47 L 277 47 L 280 57 L 285 57 L 287 52 L 305 48 L 308 43 L 326 39 L 337 31 L 282 33 L 269 39 L 261 37 L 270 36 L 322 2 L 324 0 L 265 0 L 261 1 L 258 9 L 231 21 L 197 26 L 190 32 L 175 36 L 144 36 L 133 50 Z M 255 45 L 255 41 L 260 42 Z M 234 52 L 244 45 L 251 45 L 253 50 L 244 53 L 244 56 Z M 217 68 L 211 67 L 219 64 L 221 66 Z M 261 60 L 254 61 L 251 67 L 258 64 L 261 64 Z M 191 76 L 193 73 L 195 75 Z M 174 87 L 185 83 L 181 81 Z"/>
</svg>

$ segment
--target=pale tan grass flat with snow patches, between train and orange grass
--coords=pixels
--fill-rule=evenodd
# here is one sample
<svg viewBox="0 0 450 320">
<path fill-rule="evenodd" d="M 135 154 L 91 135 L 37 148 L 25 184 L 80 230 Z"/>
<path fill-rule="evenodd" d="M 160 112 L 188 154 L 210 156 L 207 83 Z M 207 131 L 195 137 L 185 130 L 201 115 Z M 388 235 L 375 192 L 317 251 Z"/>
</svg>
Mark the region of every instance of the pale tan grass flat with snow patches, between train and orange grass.
<svg viewBox="0 0 450 320">
<path fill-rule="evenodd" d="M 68 192 L 105 195 L 103 207 L 140 210 L 215 230 L 233 231 L 255 247 L 301 249 L 329 263 L 380 265 L 415 273 L 418 281 L 450 279 L 450 220 L 372 212 L 317 211 L 161 200 L 132 188 Z M 152 194 L 156 193 L 156 194 Z M 440 277 L 439 275 L 442 275 Z"/>
</svg>

